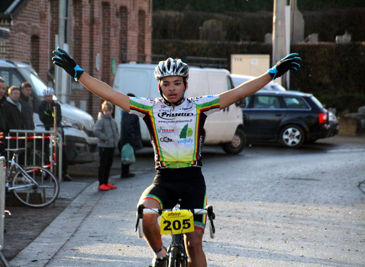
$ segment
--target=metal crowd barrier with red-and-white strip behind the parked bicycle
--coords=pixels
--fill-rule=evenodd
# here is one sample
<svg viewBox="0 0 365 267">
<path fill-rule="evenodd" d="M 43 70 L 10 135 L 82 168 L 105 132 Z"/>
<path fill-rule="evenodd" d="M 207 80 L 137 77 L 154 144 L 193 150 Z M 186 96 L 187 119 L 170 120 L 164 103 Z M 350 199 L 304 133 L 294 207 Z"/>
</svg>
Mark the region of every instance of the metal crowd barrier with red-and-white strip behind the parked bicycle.
<svg viewBox="0 0 365 267">
<path fill-rule="evenodd" d="M 10 130 L 5 138 L 8 141 L 8 148 L 25 148 L 24 154 L 16 156 L 16 162 L 19 158 L 21 159 L 21 162 L 18 162 L 20 165 L 43 166 L 54 173 L 54 167 L 58 162 L 58 180 L 61 181 L 63 147 L 60 132 L 54 136 L 54 131 Z M 54 157 L 56 156 L 54 155 L 56 148 L 58 148 L 58 161 Z M 7 158 L 9 160 L 11 156 L 11 152 L 8 151 Z"/>
</svg>

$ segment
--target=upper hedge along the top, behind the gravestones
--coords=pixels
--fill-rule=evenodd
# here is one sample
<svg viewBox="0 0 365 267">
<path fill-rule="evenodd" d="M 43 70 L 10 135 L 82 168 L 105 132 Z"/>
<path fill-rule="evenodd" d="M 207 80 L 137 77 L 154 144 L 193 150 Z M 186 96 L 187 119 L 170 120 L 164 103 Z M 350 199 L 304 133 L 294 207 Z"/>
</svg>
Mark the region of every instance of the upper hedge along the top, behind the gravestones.
<svg viewBox="0 0 365 267">
<path fill-rule="evenodd" d="M 364 1 L 365 3 L 365 1 Z M 320 42 L 335 42 L 336 35 L 346 31 L 352 41 L 365 41 L 365 8 L 303 11 L 304 37 L 318 33 Z M 272 12 L 157 11 L 153 13 L 153 39 L 199 40 L 199 27 L 209 19 L 222 21 L 225 41 L 264 42 L 272 32 Z"/>
</svg>

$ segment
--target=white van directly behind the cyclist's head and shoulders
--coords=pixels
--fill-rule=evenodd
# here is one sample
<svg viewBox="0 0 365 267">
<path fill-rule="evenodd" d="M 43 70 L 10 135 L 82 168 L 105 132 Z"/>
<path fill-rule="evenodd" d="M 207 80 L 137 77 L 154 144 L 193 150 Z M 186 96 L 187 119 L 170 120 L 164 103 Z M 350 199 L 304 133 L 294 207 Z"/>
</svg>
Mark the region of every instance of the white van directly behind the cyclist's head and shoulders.
<svg viewBox="0 0 365 267">
<path fill-rule="evenodd" d="M 153 64 L 119 64 L 117 67 L 114 89 L 124 94 L 132 93 L 138 97 L 155 99 L 161 97 L 158 82 L 155 79 Z M 232 89 L 230 72 L 215 68 L 189 68 L 188 90 L 186 97 L 220 94 Z M 115 120 L 120 127 L 121 109 L 116 107 Z M 144 122 L 140 119 L 143 143 L 150 142 L 150 135 Z M 204 130 L 204 144 L 221 144 L 228 154 L 238 154 L 245 146 L 242 131 L 242 109 L 231 105 L 220 112 L 207 117 Z"/>
</svg>

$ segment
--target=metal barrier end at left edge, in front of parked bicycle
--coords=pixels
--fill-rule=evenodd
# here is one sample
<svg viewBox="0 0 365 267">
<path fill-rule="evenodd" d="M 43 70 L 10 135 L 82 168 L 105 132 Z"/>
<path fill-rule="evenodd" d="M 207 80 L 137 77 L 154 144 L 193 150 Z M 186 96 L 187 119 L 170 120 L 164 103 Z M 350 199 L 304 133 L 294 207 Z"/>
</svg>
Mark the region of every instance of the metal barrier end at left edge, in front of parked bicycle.
<svg viewBox="0 0 365 267">
<path fill-rule="evenodd" d="M 4 266 L 9 266 L 1 250 L 4 247 L 4 218 L 5 218 L 5 180 L 6 162 L 4 157 L 0 157 L 0 258 Z"/>
</svg>

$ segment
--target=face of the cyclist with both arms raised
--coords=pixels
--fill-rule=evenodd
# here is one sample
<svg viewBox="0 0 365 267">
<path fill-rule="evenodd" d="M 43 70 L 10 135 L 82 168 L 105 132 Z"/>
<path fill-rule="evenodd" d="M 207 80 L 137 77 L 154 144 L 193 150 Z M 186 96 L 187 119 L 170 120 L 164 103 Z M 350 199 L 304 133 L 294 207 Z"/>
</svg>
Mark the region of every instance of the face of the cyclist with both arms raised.
<svg viewBox="0 0 365 267">
<path fill-rule="evenodd" d="M 167 101 L 177 102 L 184 95 L 184 80 L 180 76 L 169 76 L 160 80 L 160 90 Z M 188 83 L 187 83 L 188 88 Z"/>
</svg>

